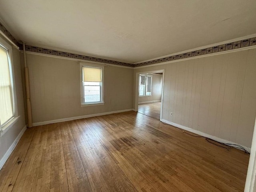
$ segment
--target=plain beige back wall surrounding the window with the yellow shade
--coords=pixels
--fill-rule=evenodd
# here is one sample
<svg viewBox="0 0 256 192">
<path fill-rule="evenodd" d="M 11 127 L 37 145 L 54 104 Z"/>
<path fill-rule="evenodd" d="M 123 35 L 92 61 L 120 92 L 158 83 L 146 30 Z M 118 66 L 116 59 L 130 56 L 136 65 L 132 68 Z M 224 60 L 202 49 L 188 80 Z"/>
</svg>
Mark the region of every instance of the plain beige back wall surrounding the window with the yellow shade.
<svg viewBox="0 0 256 192">
<path fill-rule="evenodd" d="M 105 104 L 81 107 L 79 63 L 27 54 L 27 64 L 33 123 L 132 109 L 132 68 L 105 67 Z"/>
</svg>

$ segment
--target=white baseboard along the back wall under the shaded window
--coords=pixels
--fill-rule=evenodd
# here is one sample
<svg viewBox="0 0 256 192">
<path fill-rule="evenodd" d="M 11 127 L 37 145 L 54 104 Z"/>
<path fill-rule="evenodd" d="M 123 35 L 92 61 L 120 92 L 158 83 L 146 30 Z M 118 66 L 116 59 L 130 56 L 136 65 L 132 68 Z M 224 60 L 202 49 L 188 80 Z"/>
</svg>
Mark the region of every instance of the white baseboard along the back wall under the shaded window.
<svg viewBox="0 0 256 192">
<path fill-rule="evenodd" d="M 77 116 L 77 117 L 68 117 L 68 118 L 56 119 L 56 120 L 50 120 L 50 121 L 42 121 L 42 122 L 33 123 L 32 126 L 47 125 L 47 124 L 51 124 L 51 123 L 59 123 L 59 122 L 76 120 L 76 119 L 84 119 L 84 118 L 89 118 L 89 117 L 109 115 L 109 114 L 114 114 L 114 113 L 122 113 L 122 112 L 127 112 L 127 111 L 132 111 L 132 110 L 133 109 L 124 109 L 124 110 L 119 110 L 119 111 L 110 111 L 110 112 L 96 113 L 96 114 L 83 115 L 83 116 Z"/>
</svg>

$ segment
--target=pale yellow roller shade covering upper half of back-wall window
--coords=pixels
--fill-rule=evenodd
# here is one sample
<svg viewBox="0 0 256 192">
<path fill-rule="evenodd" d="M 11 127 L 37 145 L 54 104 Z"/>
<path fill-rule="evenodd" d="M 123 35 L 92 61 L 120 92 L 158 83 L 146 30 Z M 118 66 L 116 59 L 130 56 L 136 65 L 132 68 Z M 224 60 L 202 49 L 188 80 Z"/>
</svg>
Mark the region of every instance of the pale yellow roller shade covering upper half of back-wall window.
<svg viewBox="0 0 256 192">
<path fill-rule="evenodd" d="M 84 81 L 102 82 L 101 68 L 83 67 L 83 70 L 84 70 Z"/>
</svg>

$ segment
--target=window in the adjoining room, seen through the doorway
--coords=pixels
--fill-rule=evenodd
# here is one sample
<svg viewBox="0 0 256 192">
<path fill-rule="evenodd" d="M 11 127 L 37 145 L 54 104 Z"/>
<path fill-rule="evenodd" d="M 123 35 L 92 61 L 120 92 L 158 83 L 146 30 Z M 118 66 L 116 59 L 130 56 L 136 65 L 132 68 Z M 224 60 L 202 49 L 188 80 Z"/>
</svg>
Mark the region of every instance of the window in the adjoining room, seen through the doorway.
<svg viewBox="0 0 256 192">
<path fill-rule="evenodd" d="M 152 87 L 151 75 L 140 75 L 139 96 L 150 96 Z"/>
</svg>

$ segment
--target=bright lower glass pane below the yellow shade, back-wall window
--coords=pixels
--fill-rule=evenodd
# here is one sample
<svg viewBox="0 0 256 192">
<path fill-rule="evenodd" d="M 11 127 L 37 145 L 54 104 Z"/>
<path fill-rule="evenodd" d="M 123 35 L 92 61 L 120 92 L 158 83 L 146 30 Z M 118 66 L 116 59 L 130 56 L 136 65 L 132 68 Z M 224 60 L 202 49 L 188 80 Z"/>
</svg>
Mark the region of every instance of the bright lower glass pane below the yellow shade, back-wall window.
<svg viewBox="0 0 256 192">
<path fill-rule="evenodd" d="M 84 86 L 84 102 L 101 102 L 100 86 Z"/>
</svg>

